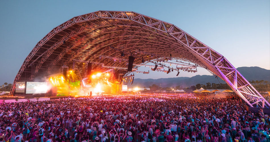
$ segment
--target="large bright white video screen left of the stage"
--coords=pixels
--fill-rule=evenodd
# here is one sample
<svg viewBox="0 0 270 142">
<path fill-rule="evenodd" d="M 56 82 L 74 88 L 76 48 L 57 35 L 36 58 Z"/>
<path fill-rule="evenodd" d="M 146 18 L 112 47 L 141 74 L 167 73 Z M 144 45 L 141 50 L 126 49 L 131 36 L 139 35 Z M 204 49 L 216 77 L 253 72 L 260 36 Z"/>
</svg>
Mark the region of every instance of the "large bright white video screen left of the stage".
<svg viewBox="0 0 270 142">
<path fill-rule="evenodd" d="M 47 82 L 26 82 L 26 94 L 47 93 Z"/>
</svg>

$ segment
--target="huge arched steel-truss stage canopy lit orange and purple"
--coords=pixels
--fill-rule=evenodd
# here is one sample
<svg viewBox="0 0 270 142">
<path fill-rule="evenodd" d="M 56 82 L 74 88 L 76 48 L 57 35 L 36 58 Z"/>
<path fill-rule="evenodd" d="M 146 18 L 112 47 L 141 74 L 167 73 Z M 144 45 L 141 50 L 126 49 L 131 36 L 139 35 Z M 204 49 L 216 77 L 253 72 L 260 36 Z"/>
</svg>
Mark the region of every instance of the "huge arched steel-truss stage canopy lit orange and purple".
<svg viewBox="0 0 270 142">
<path fill-rule="evenodd" d="M 126 55 L 123 61 L 133 55 L 134 64 L 142 64 L 142 59 L 156 63 L 165 58 L 192 62 L 222 78 L 248 106 L 270 106 L 221 54 L 173 24 L 132 11 L 96 11 L 55 27 L 24 60 L 11 94 L 15 82 L 44 79 L 61 72 L 63 65 L 77 68 L 85 77 L 86 71 L 78 61 L 93 62 L 93 68 L 99 70 L 107 70 L 102 64 L 127 67 L 126 62 L 100 59 L 101 55 L 121 58 L 121 53 Z"/>
</svg>

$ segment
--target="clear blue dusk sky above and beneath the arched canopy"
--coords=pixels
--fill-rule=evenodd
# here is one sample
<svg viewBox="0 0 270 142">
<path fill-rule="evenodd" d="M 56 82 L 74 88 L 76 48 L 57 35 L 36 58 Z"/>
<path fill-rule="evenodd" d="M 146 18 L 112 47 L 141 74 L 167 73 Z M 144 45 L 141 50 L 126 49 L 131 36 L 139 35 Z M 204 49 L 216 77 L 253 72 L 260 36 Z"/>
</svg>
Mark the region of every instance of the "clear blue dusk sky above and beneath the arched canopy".
<svg viewBox="0 0 270 142">
<path fill-rule="evenodd" d="M 135 11 L 176 25 L 226 57 L 234 67 L 270 69 L 270 1 L 100 0 L 0 1 L 0 85 L 13 83 L 24 59 L 54 27 L 99 10 Z M 148 71 L 149 68 L 139 68 Z M 135 78 L 171 78 L 154 72 Z M 178 77 L 210 75 L 180 72 Z"/>
</svg>

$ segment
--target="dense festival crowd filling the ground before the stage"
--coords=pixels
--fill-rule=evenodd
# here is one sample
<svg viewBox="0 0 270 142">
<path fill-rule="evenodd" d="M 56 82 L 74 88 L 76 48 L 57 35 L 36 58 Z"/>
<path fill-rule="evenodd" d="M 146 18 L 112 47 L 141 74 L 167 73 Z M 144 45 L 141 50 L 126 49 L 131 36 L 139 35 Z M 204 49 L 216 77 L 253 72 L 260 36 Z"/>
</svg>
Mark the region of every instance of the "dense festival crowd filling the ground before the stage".
<svg viewBox="0 0 270 142">
<path fill-rule="evenodd" d="M 0 104 L 0 142 L 270 142 L 270 118 L 206 94 Z"/>
</svg>

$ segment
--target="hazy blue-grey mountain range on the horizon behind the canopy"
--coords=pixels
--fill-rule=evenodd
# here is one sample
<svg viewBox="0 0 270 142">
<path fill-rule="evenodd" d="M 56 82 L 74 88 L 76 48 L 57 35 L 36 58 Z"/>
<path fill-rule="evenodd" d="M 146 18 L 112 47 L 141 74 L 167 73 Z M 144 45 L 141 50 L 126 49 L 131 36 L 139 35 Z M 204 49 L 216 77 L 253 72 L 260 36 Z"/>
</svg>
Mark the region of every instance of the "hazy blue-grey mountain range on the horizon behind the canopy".
<svg viewBox="0 0 270 142">
<path fill-rule="evenodd" d="M 270 70 L 260 68 L 257 66 L 254 67 L 239 67 L 237 70 L 248 80 L 267 80 L 270 82 Z M 225 83 L 221 78 L 218 78 L 220 83 Z M 177 78 L 159 78 L 159 79 L 134 79 L 132 85 L 128 84 L 128 87 L 149 87 L 152 84 L 161 84 L 163 87 L 190 87 L 191 85 L 206 84 L 210 83 L 219 83 L 215 76 L 208 75 L 196 75 L 191 78 L 189 77 L 177 77 Z"/>
</svg>

